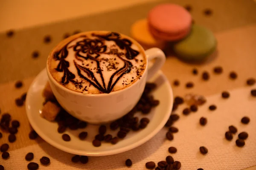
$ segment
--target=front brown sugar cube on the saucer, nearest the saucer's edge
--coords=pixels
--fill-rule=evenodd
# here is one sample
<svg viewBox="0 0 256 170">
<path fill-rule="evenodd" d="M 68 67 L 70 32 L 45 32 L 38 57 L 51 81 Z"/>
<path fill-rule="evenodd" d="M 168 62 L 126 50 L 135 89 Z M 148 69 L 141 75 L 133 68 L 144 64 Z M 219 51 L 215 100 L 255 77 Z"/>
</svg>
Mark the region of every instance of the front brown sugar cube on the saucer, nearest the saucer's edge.
<svg viewBox="0 0 256 170">
<path fill-rule="evenodd" d="M 49 121 L 53 121 L 55 120 L 57 114 L 61 111 L 61 108 L 58 107 L 57 105 L 55 105 L 55 103 L 52 103 L 50 101 L 48 101 L 43 109 L 42 109 L 42 116 L 49 120 Z"/>
</svg>

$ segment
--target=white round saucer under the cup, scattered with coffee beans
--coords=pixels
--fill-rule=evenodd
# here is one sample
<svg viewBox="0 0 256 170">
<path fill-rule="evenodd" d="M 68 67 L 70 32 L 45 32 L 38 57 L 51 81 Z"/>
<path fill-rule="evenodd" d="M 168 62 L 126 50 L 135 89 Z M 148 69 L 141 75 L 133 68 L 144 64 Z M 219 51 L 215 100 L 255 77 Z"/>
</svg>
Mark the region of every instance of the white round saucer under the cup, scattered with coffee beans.
<svg viewBox="0 0 256 170">
<path fill-rule="evenodd" d="M 84 129 L 68 129 L 65 133 L 70 135 L 71 141 L 65 142 L 61 138 L 61 134 L 57 132 L 57 123 L 49 122 L 40 116 L 41 108 L 43 106 L 42 103 L 44 102 L 42 91 L 47 81 L 48 77 L 46 69 L 44 69 L 34 79 L 29 88 L 29 91 L 27 92 L 26 113 L 30 124 L 42 139 L 44 139 L 52 146 L 68 153 L 86 156 L 106 156 L 131 150 L 147 142 L 149 139 L 155 136 L 165 125 L 172 111 L 172 88 L 170 87 L 169 82 L 164 74 L 160 71 L 150 81 L 157 83 L 157 89 L 154 90 L 152 94 L 154 95 L 155 99 L 160 100 L 160 104 L 156 108 L 152 109 L 151 113 L 148 115 L 136 113 L 136 116 L 139 118 L 148 117 L 150 119 L 150 122 L 145 129 L 137 132 L 129 132 L 125 139 L 119 140 L 117 144 L 102 142 L 100 147 L 94 147 L 92 141 L 98 132 L 99 126 L 88 125 Z M 106 134 L 112 134 L 112 136 L 116 136 L 118 130 L 110 130 L 109 125 L 107 126 L 108 130 Z M 84 141 L 81 141 L 78 138 L 78 134 L 81 131 L 88 132 L 87 139 Z"/>
</svg>

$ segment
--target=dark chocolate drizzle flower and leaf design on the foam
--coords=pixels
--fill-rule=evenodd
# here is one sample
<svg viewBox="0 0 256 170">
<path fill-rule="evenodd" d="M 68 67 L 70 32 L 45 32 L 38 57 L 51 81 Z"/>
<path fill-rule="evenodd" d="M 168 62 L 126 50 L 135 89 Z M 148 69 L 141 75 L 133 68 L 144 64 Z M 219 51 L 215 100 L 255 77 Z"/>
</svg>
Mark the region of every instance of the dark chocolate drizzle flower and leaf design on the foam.
<svg viewBox="0 0 256 170">
<path fill-rule="evenodd" d="M 100 74 L 102 85 L 99 83 L 99 81 L 96 79 L 93 71 L 90 70 L 90 68 L 87 68 L 84 65 L 79 65 L 75 60 L 74 65 L 76 67 L 77 73 L 81 79 L 84 79 L 85 81 L 89 82 L 90 85 L 93 85 L 95 88 L 97 88 L 101 93 L 110 93 L 116 83 L 119 81 L 120 78 L 124 74 L 128 74 L 131 71 L 131 68 L 133 67 L 132 63 L 128 60 L 134 59 L 138 54 L 140 54 L 139 51 L 134 50 L 131 48 L 132 42 L 128 39 L 122 38 L 120 34 L 111 32 L 109 34 L 105 35 L 98 35 L 98 34 L 91 34 L 93 37 L 96 37 L 96 39 L 90 39 L 87 38 L 85 35 L 81 35 L 78 38 L 84 38 L 83 40 L 76 42 L 76 45 L 67 47 L 71 42 L 67 43 L 61 50 L 56 51 L 54 53 L 53 58 L 55 61 L 59 61 L 57 68 L 55 68 L 58 72 L 64 72 L 61 83 L 63 85 L 68 83 L 73 83 L 75 86 L 81 85 L 81 82 L 78 82 L 75 80 L 76 76 L 73 74 L 68 68 L 70 66 L 70 63 L 66 60 L 66 57 L 68 56 L 68 48 L 73 48 L 73 51 L 75 51 L 75 58 L 79 61 L 85 60 L 91 60 L 92 63 L 96 62 L 97 64 L 97 74 Z M 78 39 L 76 38 L 76 39 Z M 76 40 L 75 39 L 75 40 Z M 106 52 L 107 45 L 105 45 L 106 41 L 113 41 L 115 44 L 122 50 L 125 50 L 125 53 L 120 53 L 116 49 L 111 49 L 109 52 Z M 100 61 L 101 59 L 98 59 L 100 54 L 114 54 L 116 57 L 119 57 L 124 62 L 124 66 L 122 68 L 115 68 L 113 66 L 113 69 L 116 71 L 111 75 L 111 78 L 108 82 L 108 86 L 105 85 L 105 80 L 102 74 L 102 69 L 100 68 Z M 123 59 L 121 56 L 124 56 L 127 59 Z M 87 74 L 87 77 L 85 77 L 83 74 L 81 74 L 81 71 L 84 71 Z M 115 81 L 113 81 L 113 78 L 119 75 Z"/>
</svg>

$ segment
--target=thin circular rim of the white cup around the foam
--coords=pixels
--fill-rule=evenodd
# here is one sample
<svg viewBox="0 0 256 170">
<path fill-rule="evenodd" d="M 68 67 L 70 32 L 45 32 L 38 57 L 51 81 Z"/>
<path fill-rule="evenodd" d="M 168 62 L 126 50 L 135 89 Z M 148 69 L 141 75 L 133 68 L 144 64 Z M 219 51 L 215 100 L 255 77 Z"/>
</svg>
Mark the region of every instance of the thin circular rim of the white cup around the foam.
<svg viewBox="0 0 256 170">
<path fill-rule="evenodd" d="M 146 58 L 146 68 L 145 70 L 143 71 L 143 74 L 141 75 L 140 79 L 137 79 L 136 82 L 134 82 L 133 84 L 129 85 L 127 88 L 122 88 L 120 90 L 117 90 L 117 91 L 113 91 L 113 92 L 110 92 L 110 93 L 102 93 L 102 94 L 83 94 L 81 92 L 78 92 L 78 91 L 73 91 L 69 88 L 66 88 L 64 87 L 63 85 L 60 85 L 60 83 L 57 82 L 57 80 L 55 80 L 53 77 L 52 77 L 52 74 L 50 73 L 49 71 L 49 66 L 48 66 L 48 63 L 49 63 L 49 57 L 52 55 L 53 51 L 55 50 L 55 48 L 58 48 L 59 46 L 63 45 L 64 43 L 67 43 L 68 41 L 71 41 L 72 39 L 75 39 L 77 37 L 79 37 L 80 35 L 84 34 L 84 33 L 89 33 L 89 32 L 113 32 L 113 31 L 84 31 L 84 32 L 81 32 L 79 34 L 75 34 L 75 35 L 72 35 L 64 40 L 61 40 L 61 42 L 58 42 L 57 45 L 55 45 L 52 50 L 50 51 L 48 57 L 47 57 L 47 62 L 46 62 L 46 71 L 47 71 L 47 76 L 49 78 L 49 81 L 52 82 L 54 85 L 58 86 L 58 88 L 61 88 L 62 90 L 64 91 L 67 91 L 68 93 L 71 93 L 71 94 L 74 94 L 74 95 L 79 95 L 79 96 L 94 96 L 94 97 L 97 97 L 97 96 L 111 96 L 111 95 L 115 95 L 115 94 L 118 94 L 118 93 L 122 93 L 124 91 L 127 91 L 129 90 L 130 88 L 132 88 L 135 84 L 137 84 L 138 82 L 140 82 L 143 78 L 146 78 L 145 77 L 145 74 L 147 74 L 148 72 L 148 57 L 147 55 L 145 54 L 145 50 L 144 48 L 140 45 L 139 42 L 137 42 L 136 40 L 134 40 L 133 38 L 125 35 L 125 34 L 122 34 L 122 33 L 118 33 L 120 34 L 122 37 L 126 37 L 126 38 L 129 38 L 131 40 L 133 40 L 134 42 L 136 42 L 136 45 L 139 46 L 139 48 L 142 49 L 142 53 L 143 55 L 145 56 Z"/>
</svg>

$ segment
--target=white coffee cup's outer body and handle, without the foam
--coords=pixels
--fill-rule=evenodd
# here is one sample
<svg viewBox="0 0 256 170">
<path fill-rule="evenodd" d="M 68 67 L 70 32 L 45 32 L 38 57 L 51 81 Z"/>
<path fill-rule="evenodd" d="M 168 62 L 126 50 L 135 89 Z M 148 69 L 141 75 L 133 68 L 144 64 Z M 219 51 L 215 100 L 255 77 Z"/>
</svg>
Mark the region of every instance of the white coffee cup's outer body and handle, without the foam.
<svg viewBox="0 0 256 170">
<path fill-rule="evenodd" d="M 134 108 L 143 93 L 146 81 L 160 70 L 166 60 L 165 54 L 159 48 L 151 48 L 142 53 L 147 57 L 145 71 L 140 79 L 127 88 L 109 94 L 82 94 L 56 82 L 47 65 L 49 84 L 60 105 L 72 116 L 92 124 L 111 122 Z M 155 59 L 154 63 L 149 67 L 152 59 Z"/>
</svg>

